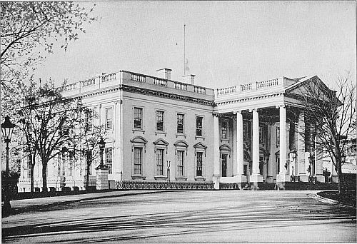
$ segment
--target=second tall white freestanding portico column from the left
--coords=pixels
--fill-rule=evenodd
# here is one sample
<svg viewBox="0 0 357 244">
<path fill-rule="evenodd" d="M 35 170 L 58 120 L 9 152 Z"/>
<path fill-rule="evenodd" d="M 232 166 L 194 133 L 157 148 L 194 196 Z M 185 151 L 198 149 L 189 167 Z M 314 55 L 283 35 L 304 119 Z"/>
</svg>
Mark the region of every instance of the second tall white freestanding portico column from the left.
<svg viewBox="0 0 357 244">
<path fill-rule="evenodd" d="M 253 126 L 252 126 L 252 175 L 259 175 L 259 115 L 258 109 L 253 109 Z"/>
</svg>

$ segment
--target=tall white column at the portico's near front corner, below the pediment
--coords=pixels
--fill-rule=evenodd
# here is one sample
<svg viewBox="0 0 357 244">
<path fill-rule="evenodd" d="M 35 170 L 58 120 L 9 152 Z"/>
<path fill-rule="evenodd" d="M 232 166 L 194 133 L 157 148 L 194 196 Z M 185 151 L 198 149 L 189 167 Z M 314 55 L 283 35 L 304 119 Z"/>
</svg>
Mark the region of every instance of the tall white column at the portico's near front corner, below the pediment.
<svg viewBox="0 0 357 244">
<path fill-rule="evenodd" d="M 286 174 L 286 108 L 279 106 L 279 126 L 280 126 L 280 172 Z"/>
</svg>

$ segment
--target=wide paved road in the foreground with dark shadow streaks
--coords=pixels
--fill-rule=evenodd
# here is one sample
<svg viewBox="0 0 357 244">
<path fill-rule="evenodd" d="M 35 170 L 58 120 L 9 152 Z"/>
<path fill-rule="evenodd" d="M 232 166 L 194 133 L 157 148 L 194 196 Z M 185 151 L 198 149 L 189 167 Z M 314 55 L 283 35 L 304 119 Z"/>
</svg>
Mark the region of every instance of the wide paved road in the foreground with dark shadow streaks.
<svg viewBox="0 0 357 244">
<path fill-rule="evenodd" d="M 312 191 L 177 191 L 82 200 L 3 219 L 4 243 L 356 243 L 356 210 Z"/>
</svg>

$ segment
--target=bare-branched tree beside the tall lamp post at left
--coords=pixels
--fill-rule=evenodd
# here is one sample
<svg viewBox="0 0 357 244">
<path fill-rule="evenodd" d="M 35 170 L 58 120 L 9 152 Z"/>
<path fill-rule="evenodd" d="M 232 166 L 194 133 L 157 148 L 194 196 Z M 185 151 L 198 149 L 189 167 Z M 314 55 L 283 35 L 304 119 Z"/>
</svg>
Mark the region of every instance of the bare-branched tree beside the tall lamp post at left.
<svg viewBox="0 0 357 244">
<path fill-rule="evenodd" d="M 30 148 L 32 162 L 35 165 L 36 154 L 41 158 L 43 190 L 47 190 L 47 165 L 61 153 L 62 147 L 69 141 L 76 141 L 76 126 L 83 123 L 80 98 L 64 98 L 54 90 L 53 84 L 26 97 L 26 106 L 20 110 L 21 127 L 26 146 Z M 31 167 L 31 173 L 33 167 Z"/>
</svg>

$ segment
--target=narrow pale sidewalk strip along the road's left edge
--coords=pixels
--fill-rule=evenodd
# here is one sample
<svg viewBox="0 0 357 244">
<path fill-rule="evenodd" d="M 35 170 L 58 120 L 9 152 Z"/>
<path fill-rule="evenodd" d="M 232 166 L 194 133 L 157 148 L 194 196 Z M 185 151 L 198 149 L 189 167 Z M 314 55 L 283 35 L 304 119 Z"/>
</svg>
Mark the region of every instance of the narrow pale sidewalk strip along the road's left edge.
<svg viewBox="0 0 357 244">
<path fill-rule="evenodd" d="M 87 193 L 79 195 L 62 195 L 48 198 L 31 198 L 22 200 L 11 200 L 11 215 L 16 213 L 24 213 L 31 210 L 39 210 L 49 208 L 56 205 L 64 205 L 68 203 L 75 203 L 81 200 L 92 200 L 99 198 L 114 198 L 125 195 L 138 195 L 138 194 L 152 194 L 160 193 L 166 190 L 113 190 L 103 193 Z"/>
</svg>

